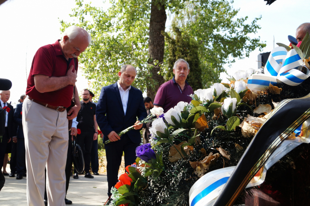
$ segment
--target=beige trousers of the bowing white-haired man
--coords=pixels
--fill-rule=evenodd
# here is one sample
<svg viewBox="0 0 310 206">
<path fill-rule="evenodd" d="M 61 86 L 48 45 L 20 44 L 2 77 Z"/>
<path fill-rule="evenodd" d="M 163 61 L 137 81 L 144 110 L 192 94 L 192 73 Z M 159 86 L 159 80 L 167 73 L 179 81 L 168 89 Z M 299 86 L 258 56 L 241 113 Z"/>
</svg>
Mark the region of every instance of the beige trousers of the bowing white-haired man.
<svg viewBox="0 0 310 206">
<path fill-rule="evenodd" d="M 26 98 L 23 103 L 28 206 L 44 206 L 44 169 L 49 206 L 65 206 L 64 169 L 68 150 L 67 112 Z"/>
</svg>

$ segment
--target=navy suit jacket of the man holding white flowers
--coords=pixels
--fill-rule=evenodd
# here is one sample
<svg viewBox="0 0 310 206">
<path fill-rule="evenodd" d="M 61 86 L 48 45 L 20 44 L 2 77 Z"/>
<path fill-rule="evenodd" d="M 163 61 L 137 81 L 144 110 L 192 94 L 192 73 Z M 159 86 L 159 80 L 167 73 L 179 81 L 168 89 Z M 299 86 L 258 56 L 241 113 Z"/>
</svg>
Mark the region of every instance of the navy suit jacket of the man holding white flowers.
<svg viewBox="0 0 310 206">
<path fill-rule="evenodd" d="M 137 88 L 131 86 L 131 89 L 129 90 L 125 115 L 117 82 L 115 84 L 102 87 L 96 108 L 96 121 L 104 134 L 104 141 L 108 140 L 108 134 L 110 134 L 110 132 L 115 131 L 116 133 L 119 133 L 122 130 L 134 125 L 137 121 L 137 117 L 138 120 L 141 121 L 146 116 L 148 116 L 148 114 L 146 113 L 143 103 L 142 92 Z M 139 130 L 132 129 L 126 134 L 132 142 L 141 142 Z M 115 142 L 111 142 L 109 144 L 113 143 Z"/>
</svg>

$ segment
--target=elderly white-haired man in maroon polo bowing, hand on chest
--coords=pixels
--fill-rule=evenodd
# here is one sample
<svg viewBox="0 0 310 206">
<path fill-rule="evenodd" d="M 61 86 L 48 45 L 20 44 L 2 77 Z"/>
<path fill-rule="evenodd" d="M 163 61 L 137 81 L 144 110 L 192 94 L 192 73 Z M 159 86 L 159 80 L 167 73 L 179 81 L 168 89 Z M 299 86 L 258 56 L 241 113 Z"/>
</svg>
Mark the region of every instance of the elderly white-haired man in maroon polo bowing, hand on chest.
<svg viewBox="0 0 310 206">
<path fill-rule="evenodd" d="M 68 120 L 81 108 L 77 81 L 77 57 L 91 42 L 90 34 L 68 27 L 62 40 L 42 46 L 33 57 L 23 103 L 28 205 L 44 205 L 44 169 L 49 206 L 65 206 L 65 166 L 68 150 Z M 75 88 L 75 106 L 68 112 Z"/>
</svg>

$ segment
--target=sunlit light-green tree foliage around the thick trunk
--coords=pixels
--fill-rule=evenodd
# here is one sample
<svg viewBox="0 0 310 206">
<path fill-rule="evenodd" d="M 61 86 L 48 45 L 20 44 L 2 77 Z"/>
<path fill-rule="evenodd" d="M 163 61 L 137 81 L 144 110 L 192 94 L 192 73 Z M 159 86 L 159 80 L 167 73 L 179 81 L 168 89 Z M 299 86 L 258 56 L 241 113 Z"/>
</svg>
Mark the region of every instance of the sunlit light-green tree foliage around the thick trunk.
<svg viewBox="0 0 310 206">
<path fill-rule="evenodd" d="M 178 27 L 197 41 L 203 86 L 220 81 L 220 72 L 225 72 L 223 65 L 234 62 L 228 60 L 229 56 L 242 58 L 255 48 L 265 46 L 259 43 L 259 37 L 248 37 L 260 28 L 257 25 L 260 18 L 246 24 L 247 17 L 236 18 L 238 10 L 227 0 L 111 0 L 110 4 L 111 7 L 104 9 L 76 0 L 77 7 L 70 16 L 77 21 L 61 21 L 62 30 L 75 24 L 91 33 L 92 43 L 79 61 L 97 94 L 102 86 L 117 81 L 117 72 L 123 64 L 132 64 L 138 70 L 134 86 L 154 96 L 160 84 L 158 78 L 154 78 L 154 69 L 159 68 L 155 73 L 164 76 L 167 65 L 166 59 L 162 63 L 149 58 L 152 5 L 175 15 Z M 166 22 L 165 18 L 158 19 Z"/>
</svg>

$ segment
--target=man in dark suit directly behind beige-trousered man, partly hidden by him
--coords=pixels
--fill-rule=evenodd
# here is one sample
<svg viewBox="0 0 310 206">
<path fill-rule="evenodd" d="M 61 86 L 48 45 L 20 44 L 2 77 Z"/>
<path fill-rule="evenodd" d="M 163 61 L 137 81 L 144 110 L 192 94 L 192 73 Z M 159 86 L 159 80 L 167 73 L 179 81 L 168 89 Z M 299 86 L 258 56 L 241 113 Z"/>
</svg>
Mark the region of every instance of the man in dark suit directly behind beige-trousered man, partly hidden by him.
<svg viewBox="0 0 310 206">
<path fill-rule="evenodd" d="M 26 172 L 26 149 L 25 149 L 24 130 L 22 123 L 22 107 L 25 97 L 26 95 L 20 96 L 21 103 L 16 105 L 16 109 L 14 112 L 14 121 L 18 125 L 16 135 L 17 138 L 16 179 L 18 180 L 23 179 L 23 176 L 25 175 Z"/>
</svg>

